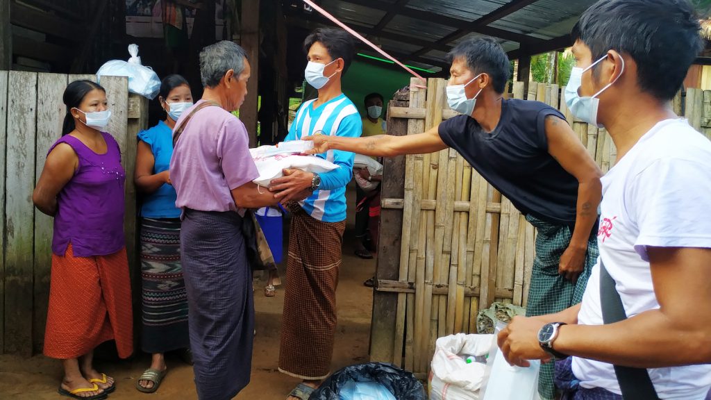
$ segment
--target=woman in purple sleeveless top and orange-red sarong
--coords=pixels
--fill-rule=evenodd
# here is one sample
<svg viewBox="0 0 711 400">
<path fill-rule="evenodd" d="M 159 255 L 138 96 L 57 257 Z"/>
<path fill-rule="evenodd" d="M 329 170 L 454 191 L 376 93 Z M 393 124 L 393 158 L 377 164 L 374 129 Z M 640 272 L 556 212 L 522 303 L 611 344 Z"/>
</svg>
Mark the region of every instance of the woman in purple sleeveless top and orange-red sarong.
<svg viewBox="0 0 711 400">
<path fill-rule="evenodd" d="M 32 201 L 54 217 L 52 275 L 44 354 L 61 359 L 63 396 L 104 399 L 115 381 L 92 366 L 94 349 L 115 340 L 133 352 L 131 281 L 124 241 L 121 151 L 105 132 L 106 90 L 70 83 L 62 137 L 50 147 Z"/>
</svg>

